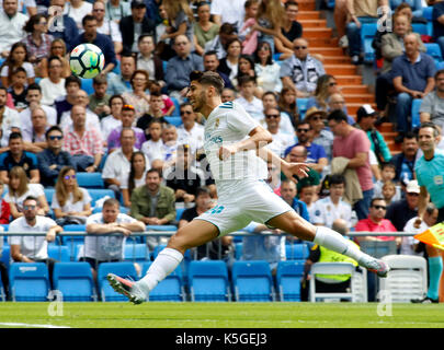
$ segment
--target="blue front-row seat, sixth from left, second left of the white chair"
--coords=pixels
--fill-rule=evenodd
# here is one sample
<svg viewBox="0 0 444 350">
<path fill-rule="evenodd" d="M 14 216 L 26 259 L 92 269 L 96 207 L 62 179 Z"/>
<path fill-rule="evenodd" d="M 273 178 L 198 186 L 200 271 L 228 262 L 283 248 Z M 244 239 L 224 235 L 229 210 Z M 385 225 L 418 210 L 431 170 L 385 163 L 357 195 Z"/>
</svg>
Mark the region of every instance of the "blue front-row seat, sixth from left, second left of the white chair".
<svg viewBox="0 0 444 350">
<path fill-rule="evenodd" d="M 236 301 L 274 301 L 273 279 L 269 262 L 263 260 L 235 261 L 231 275 Z"/>
</svg>

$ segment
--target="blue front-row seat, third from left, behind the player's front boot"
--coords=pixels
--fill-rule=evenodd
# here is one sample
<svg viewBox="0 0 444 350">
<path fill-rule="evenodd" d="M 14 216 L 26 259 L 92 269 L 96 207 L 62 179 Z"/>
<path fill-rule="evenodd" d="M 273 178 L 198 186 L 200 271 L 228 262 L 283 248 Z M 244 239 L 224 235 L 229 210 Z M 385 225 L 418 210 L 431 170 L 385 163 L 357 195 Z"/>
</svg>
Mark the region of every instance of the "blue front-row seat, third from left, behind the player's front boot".
<svg viewBox="0 0 444 350">
<path fill-rule="evenodd" d="M 136 268 L 133 262 L 102 262 L 98 270 L 98 284 L 103 302 L 128 301 L 124 295 L 116 293 L 106 280 L 107 273 L 115 273 L 124 278 L 137 280 Z"/>
</svg>

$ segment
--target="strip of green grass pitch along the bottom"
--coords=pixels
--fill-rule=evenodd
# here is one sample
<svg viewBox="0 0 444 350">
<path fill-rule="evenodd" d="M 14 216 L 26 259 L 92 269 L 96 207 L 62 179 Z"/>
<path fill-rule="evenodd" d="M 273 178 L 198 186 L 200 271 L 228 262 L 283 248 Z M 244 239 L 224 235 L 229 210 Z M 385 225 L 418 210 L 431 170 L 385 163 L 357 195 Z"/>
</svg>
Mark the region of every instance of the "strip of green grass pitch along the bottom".
<svg viewBox="0 0 444 350">
<path fill-rule="evenodd" d="M 0 327 L 443 328 L 444 305 L 377 303 L 1 303 Z M 57 315 L 56 311 L 61 312 Z M 379 316 L 383 312 L 386 316 Z M 56 314 L 50 316 L 50 314 Z M 391 316 L 390 316 L 391 314 Z"/>
</svg>

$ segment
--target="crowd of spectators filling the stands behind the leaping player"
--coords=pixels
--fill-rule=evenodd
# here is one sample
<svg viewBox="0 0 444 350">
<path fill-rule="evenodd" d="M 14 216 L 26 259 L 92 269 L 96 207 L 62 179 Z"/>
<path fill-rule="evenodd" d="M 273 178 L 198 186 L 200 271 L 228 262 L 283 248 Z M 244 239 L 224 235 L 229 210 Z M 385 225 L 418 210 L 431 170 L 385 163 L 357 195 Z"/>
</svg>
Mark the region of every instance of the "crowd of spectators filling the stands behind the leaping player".
<svg viewBox="0 0 444 350">
<path fill-rule="evenodd" d="M 296 185 L 269 164 L 266 182 L 300 215 L 329 228 L 342 219 L 344 232 L 418 230 L 412 220 L 426 192 L 425 184 L 417 180 L 415 164 L 424 152 L 418 127 L 412 127 L 411 105 L 423 101 L 420 121 L 433 122 L 436 148 L 444 149 L 444 70 L 436 69 L 423 44 L 443 46 L 444 2 L 426 4 L 433 5 L 431 37 L 412 32 L 412 23 L 424 21 L 421 1 L 349 2 L 337 0 L 334 21 L 339 46 L 348 48 L 355 65 L 363 57 L 362 23 L 378 21 L 378 4 L 394 10 L 392 32 L 375 33 L 374 38 L 376 104 L 363 103 L 355 116 L 348 113 L 335 77 L 326 73 L 322 55 L 310 54 L 294 0 L 3 0 L 1 223 L 23 221 L 26 211 L 35 209 L 34 214 L 53 220 L 44 224 L 52 235 L 67 224 L 86 224 L 88 233 L 113 232 L 99 226 L 100 213 L 104 220 L 116 215 L 105 208 L 117 208 L 125 218 L 112 222 L 126 226 L 113 228 L 126 236 L 141 229 L 174 229 L 217 210 L 215 182 L 203 152 L 205 118 L 185 97 L 190 73 L 209 70 L 225 81 L 223 101 L 242 105 L 271 132 L 267 148 L 291 162 L 311 164 L 308 177 L 296 178 Z M 82 43 L 99 46 L 105 57 L 103 71 L 93 80 L 70 72 L 69 52 Z M 299 110 L 299 98 L 307 100 L 307 110 Z M 390 104 L 396 106 L 392 116 Z M 400 152 L 391 152 L 389 140 L 378 131 L 389 120 L 395 120 Z M 92 201 L 89 189 L 77 184 L 80 173 L 100 173 L 117 202 Z M 441 192 L 443 184 L 441 175 Z M 54 195 L 48 197 L 50 188 Z M 33 198 L 35 208 L 27 203 Z M 444 220 L 440 203 L 426 207 L 422 229 Z M 246 228 L 267 230 L 259 223 Z M 248 259 L 267 259 L 274 267 L 285 259 L 280 250 L 285 237 L 248 240 Z M 436 256 L 432 273 L 441 276 L 440 254 L 412 237 L 355 240 L 376 241 L 395 242 L 400 254 Z M 236 242 L 218 240 L 198 257 L 209 252 L 207 257 L 217 258 L 219 250 L 229 261 Z M 22 253 L 11 250 L 14 261 L 48 260 L 46 253 L 33 253 L 20 240 L 9 243 L 22 245 Z M 161 243 L 146 240 L 150 250 Z M 115 248 L 123 243 L 104 244 Z M 86 259 L 92 267 L 122 259 L 114 250 L 102 253 L 86 247 Z M 311 261 L 319 254 L 312 247 Z M 443 281 L 440 291 L 444 301 Z M 436 293 L 430 296 L 437 299 Z"/>
</svg>

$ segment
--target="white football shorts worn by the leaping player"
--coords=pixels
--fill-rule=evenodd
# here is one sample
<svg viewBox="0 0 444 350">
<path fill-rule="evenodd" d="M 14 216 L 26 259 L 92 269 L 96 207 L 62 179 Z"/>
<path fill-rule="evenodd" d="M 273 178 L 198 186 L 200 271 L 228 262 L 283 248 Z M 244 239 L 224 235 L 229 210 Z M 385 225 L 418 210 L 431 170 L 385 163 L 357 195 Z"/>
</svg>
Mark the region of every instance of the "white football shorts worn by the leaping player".
<svg viewBox="0 0 444 350">
<path fill-rule="evenodd" d="M 239 231 L 251 221 L 269 220 L 293 208 L 273 192 L 264 180 L 240 180 L 230 191 L 218 192 L 216 207 L 194 220 L 205 220 L 219 229 L 219 236 Z M 219 191 L 219 188 L 218 188 Z"/>
</svg>

